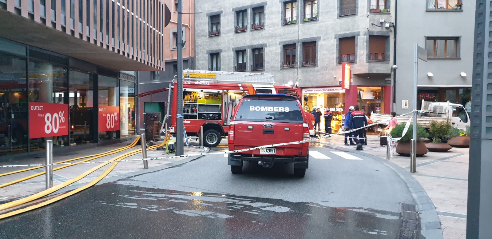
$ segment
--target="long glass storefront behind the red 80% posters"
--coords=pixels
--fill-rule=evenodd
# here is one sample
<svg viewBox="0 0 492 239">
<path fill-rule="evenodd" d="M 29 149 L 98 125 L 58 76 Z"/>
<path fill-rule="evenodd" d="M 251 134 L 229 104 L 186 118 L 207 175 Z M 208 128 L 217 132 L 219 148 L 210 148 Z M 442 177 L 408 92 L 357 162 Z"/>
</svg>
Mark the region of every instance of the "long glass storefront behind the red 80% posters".
<svg viewBox="0 0 492 239">
<path fill-rule="evenodd" d="M 135 82 L 76 67 L 77 64 L 69 65 L 67 57 L 0 39 L 0 156 L 43 150 L 46 140 L 53 140 L 54 147 L 61 148 L 135 135 Z M 118 74 L 98 71 L 107 72 L 105 75 Z M 42 138 L 36 138 L 38 132 L 33 129 L 46 125 L 36 118 L 39 115 L 34 108 L 43 104 L 48 104 L 49 110 L 68 108 L 66 114 L 56 110 L 62 113 L 56 122 L 54 118 L 51 120 L 57 130 L 67 122 L 65 135 L 44 137 L 41 134 L 43 136 L 38 137 Z M 102 130 L 98 126 L 101 117 L 94 112 L 96 106 L 99 109 L 116 107 L 113 113 L 119 130 L 98 133 Z M 40 117 L 48 114 L 46 108 L 36 108 L 40 109 Z M 113 125 L 115 121 L 111 120 Z M 39 127 L 29 127 L 30 123 Z"/>
</svg>

